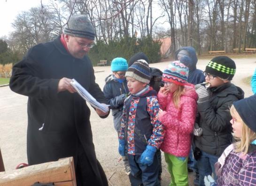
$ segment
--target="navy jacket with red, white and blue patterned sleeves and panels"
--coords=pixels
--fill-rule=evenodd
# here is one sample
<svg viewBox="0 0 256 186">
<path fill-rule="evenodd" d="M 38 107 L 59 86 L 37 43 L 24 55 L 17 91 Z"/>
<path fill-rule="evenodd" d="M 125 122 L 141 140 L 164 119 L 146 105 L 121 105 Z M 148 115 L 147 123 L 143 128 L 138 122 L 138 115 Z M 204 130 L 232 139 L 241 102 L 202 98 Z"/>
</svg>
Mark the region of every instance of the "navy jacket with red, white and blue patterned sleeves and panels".
<svg viewBox="0 0 256 186">
<path fill-rule="evenodd" d="M 156 91 L 149 86 L 140 95 L 125 99 L 119 139 L 125 139 L 128 154 L 141 155 L 147 145 L 159 149 L 164 129 L 158 111 Z"/>
</svg>

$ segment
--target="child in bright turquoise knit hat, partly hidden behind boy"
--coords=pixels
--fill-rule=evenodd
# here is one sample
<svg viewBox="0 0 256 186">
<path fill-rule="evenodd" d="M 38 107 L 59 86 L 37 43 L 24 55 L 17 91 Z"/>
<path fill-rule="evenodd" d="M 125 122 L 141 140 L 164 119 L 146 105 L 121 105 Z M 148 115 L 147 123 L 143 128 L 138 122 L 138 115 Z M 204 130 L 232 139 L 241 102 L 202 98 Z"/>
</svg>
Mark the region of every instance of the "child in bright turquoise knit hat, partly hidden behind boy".
<svg viewBox="0 0 256 186">
<path fill-rule="evenodd" d="M 124 99 L 129 93 L 124 76 L 127 68 L 128 64 L 124 58 L 113 59 L 111 62 L 111 71 L 113 74 L 106 77 L 106 84 L 103 88 L 104 96 L 107 98 L 110 109 L 112 110 L 114 127 L 118 134 L 120 133 Z M 129 175 L 131 173 L 131 168 L 128 163 L 127 155 L 123 157 L 123 162 L 125 173 Z"/>
</svg>

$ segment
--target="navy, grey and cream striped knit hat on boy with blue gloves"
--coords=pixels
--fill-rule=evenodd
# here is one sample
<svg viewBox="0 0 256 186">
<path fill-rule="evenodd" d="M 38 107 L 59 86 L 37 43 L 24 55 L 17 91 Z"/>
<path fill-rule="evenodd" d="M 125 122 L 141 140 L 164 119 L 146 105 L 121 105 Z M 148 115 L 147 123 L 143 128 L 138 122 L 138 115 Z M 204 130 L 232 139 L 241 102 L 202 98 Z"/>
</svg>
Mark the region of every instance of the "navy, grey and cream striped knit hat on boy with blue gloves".
<svg viewBox="0 0 256 186">
<path fill-rule="evenodd" d="M 147 61 L 135 61 L 132 66 L 127 69 L 125 77 L 127 76 L 132 77 L 139 82 L 145 82 L 148 84 L 150 82 L 150 69 Z"/>
</svg>

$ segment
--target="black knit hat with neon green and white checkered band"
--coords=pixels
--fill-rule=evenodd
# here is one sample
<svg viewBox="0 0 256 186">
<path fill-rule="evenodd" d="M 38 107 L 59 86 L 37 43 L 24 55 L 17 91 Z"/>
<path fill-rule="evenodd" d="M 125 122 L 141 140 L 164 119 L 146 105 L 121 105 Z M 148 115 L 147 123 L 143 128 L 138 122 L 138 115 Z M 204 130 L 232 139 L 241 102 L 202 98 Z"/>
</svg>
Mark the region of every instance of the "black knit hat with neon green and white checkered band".
<svg viewBox="0 0 256 186">
<path fill-rule="evenodd" d="M 229 57 L 217 56 L 206 65 L 205 72 L 216 75 L 221 79 L 232 80 L 235 69 L 235 62 Z"/>
</svg>

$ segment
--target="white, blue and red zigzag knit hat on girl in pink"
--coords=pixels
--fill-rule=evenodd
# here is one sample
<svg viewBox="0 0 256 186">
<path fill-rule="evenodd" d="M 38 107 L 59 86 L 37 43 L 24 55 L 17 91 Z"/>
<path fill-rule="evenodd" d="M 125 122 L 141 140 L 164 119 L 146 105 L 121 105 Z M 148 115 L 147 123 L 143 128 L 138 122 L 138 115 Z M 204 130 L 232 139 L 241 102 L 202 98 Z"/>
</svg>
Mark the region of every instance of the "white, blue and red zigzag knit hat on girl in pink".
<svg viewBox="0 0 256 186">
<path fill-rule="evenodd" d="M 173 82 L 177 85 L 186 85 L 188 78 L 188 67 L 179 61 L 173 61 L 163 71 L 163 81 Z"/>
</svg>

